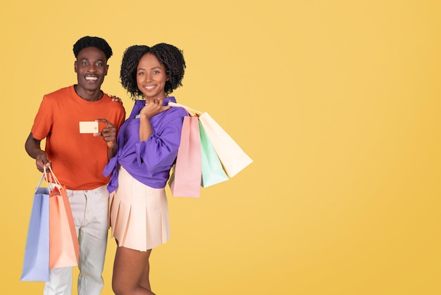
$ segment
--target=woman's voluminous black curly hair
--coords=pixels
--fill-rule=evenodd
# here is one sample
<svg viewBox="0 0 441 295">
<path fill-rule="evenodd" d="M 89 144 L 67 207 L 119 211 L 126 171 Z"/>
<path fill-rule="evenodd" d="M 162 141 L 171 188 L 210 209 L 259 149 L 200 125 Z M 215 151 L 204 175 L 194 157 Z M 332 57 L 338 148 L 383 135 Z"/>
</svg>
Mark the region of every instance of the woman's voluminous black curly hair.
<svg viewBox="0 0 441 295">
<path fill-rule="evenodd" d="M 156 59 L 166 68 L 166 76 L 168 76 L 168 81 L 164 86 L 166 95 L 182 86 L 182 78 L 184 78 L 185 72 L 185 60 L 182 50 L 166 43 L 159 43 L 152 47 L 132 45 L 125 49 L 120 70 L 121 85 L 130 93 L 132 100 L 144 95 L 137 86 L 136 76 L 139 60 L 144 54 L 148 53 L 154 54 Z"/>
</svg>

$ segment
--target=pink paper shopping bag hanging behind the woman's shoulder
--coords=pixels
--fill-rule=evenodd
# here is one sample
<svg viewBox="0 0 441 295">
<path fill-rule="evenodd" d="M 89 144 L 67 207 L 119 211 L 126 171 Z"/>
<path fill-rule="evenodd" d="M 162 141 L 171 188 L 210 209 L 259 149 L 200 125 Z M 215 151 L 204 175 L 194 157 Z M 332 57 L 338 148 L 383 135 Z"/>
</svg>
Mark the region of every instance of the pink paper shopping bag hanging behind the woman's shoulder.
<svg viewBox="0 0 441 295">
<path fill-rule="evenodd" d="M 199 198 L 201 193 L 201 141 L 197 116 L 185 116 L 178 157 L 170 176 L 170 191 L 175 197 Z"/>
</svg>

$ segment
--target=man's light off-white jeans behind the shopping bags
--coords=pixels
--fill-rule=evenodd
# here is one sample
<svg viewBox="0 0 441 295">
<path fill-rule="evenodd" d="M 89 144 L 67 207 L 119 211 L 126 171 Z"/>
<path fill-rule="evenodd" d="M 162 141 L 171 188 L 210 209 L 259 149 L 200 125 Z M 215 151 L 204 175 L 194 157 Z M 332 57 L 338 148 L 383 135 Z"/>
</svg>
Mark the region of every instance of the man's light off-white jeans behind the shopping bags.
<svg viewBox="0 0 441 295">
<path fill-rule="evenodd" d="M 78 294 L 99 295 L 108 234 L 108 191 L 100 186 L 88 191 L 66 190 L 80 243 Z M 52 268 L 44 295 L 72 294 L 72 267 Z"/>
</svg>

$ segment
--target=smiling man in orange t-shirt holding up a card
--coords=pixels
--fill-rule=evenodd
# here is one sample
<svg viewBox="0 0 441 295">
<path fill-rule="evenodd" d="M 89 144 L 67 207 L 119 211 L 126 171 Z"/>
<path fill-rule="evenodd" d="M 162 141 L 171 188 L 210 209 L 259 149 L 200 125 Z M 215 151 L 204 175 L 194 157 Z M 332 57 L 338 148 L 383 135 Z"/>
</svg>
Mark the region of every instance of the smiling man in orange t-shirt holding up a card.
<svg viewBox="0 0 441 295">
<path fill-rule="evenodd" d="M 108 234 L 108 178 L 102 171 L 116 154 L 116 133 L 125 110 L 101 91 L 112 55 L 106 40 L 82 37 L 73 53 L 77 84 L 44 95 L 25 150 L 39 171 L 50 165 L 66 185 L 80 243 L 78 294 L 99 295 Z M 98 121 L 99 131 L 80 133 L 80 121 Z M 72 294 L 72 267 L 51 269 L 44 295 L 53 294 Z"/>
</svg>

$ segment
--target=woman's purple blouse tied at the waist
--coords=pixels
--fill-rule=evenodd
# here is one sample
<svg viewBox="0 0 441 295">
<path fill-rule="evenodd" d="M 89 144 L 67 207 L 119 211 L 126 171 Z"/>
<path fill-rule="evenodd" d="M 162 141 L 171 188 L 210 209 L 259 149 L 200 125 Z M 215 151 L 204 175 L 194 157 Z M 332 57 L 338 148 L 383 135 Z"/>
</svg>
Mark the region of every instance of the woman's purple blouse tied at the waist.
<svg viewBox="0 0 441 295">
<path fill-rule="evenodd" d="M 175 97 L 167 97 L 163 100 L 163 105 L 167 105 L 168 102 L 176 102 Z M 140 142 L 138 115 L 144 106 L 144 100 L 136 100 L 132 113 L 120 127 L 118 151 L 103 171 L 104 176 L 111 174 L 109 192 L 118 187 L 118 165 L 147 186 L 166 186 L 170 169 L 178 155 L 182 121 L 188 114 L 182 107 L 172 107 L 151 117 L 151 136 Z"/>
</svg>

